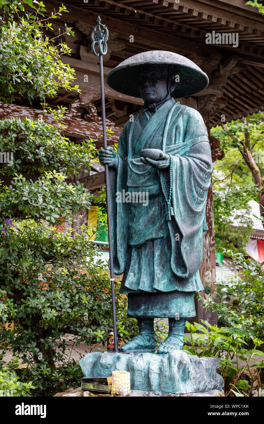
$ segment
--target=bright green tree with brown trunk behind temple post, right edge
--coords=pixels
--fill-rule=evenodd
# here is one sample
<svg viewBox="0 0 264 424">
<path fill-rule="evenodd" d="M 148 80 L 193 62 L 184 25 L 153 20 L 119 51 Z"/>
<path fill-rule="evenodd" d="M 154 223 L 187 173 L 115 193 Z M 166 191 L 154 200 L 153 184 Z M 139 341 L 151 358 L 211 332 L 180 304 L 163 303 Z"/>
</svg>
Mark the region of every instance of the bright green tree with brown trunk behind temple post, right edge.
<svg viewBox="0 0 264 424">
<path fill-rule="evenodd" d="M 213 174 L 217 243 L 241 253 L 245 253 L 243 245 L 247 243 L 253 223 L 248 201 L 256 200 L 261 214 L 264 211 L 263 130 L 263 112 L 211 130 L 225 151 L 225 157 L 215 164 Z M 233 229 L 234 219 L 240 225 L 239 231 Z"/>
</svg>

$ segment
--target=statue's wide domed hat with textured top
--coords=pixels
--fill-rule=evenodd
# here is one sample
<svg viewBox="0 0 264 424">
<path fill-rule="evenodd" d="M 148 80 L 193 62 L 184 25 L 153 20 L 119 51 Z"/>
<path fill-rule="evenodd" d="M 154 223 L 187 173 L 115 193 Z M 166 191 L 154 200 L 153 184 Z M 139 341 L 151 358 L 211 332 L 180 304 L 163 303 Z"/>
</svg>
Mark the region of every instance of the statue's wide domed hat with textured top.
<svg viewBox="0 0 264 424">
<path fill-rule="evenodd" d="M 174 65 L 175 75 L 179 75 L 179 83 L 172 96 L 175 98 L 191 96 L 208 86 L 209 80 L 194 62 L 177 53 L 165 50 L 151 50 L 125 59 L 107 77 L 107 84 L 115 91 L 133 97 L 139 94 L 140 67 L 145 64 Z"/>
</svg>

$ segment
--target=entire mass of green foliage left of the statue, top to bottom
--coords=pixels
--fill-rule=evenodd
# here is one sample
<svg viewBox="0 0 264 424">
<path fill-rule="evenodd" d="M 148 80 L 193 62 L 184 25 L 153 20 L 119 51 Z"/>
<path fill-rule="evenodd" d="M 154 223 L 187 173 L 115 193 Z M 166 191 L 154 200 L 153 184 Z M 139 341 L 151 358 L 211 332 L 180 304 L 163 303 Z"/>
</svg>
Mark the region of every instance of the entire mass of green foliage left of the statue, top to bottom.
<svg viewBox="0 0 264 424">
<path fill-rule="evenodd" d="M 14 1 L 4 7 L 0 20 L 0 98 L 3 103 L 15 96 L 36 98 L 43 108 L 38 120 L 0 120 L 0 150 L 13 154 L 13 162 L 0 165 L 0 321 L 7 323 L 0 332 L 0 357 L 11 347 L 29 364 L 25 371 L 16 370 L 17 377 L 1 371 L 10 384 L 21 381 L 19 393 L 48 395 L 81 377 L 78 363 L 67 353 L 67 335 L 72 335 L 70 351 L 74 343 L 106 342 L 111 290 L 106 265 L 94 259 L 99 254 L 92 241 L 95 230 L 72 229 L 76 217 L 89 209 L 92 195 L 83 184 L 65 181 L 91 167 L 94 140 L 70 142 L 61 134 L 64 108 L 45 104 L 45 96 L 55 96 L 58 89 L 78 89 L 71 85 L 74 71 L 59 59 L 69 49 L 60 37 L 54 43 L 46 35 L 50 19 L 65 8 L 49 18 L 43 3 L 32 6 L 33 12 L 26 12 L 23 3 Z M 45 122 L 47 110 L 55 126 Z M 103 225 L 100 209 L 98 215 Z M 118 281 L 116 285 L 118 293 Z M 129 339 L 136 321 L 127 318 L 126 301 L 116 294 L 118 334 Z"/>
</svg>

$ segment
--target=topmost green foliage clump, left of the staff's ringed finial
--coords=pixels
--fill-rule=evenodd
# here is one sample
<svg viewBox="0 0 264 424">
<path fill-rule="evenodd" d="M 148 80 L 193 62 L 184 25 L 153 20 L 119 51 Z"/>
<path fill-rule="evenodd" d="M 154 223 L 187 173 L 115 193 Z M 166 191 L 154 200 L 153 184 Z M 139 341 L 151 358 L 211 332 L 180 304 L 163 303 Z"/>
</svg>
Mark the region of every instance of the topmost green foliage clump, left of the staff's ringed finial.
<svg viewBox="0 0 264 424">
<path fill-rule="evenodd" d="M 36 3 L 33 12 L 24 12 L 22 16 L 13 3 L 0 17 L 0 99 L 3 103 L 13 101 L 16 93 L 31 101 L 35 97 L 44 100 L 45 95 L 54 97 L 60 87 L 78 89 L 72 86 L 73 69 L 60 60 L 70 49 L 63 42 L 55 44 L 58 37 L 52 37 L 52 23 L 44 16 L 44 4 Z M 64 6 L 50 19 L 57 19 L 62 11 L 66 11 Z M 73 32 L 65 27 L 63 34 Z"/>
</svg>

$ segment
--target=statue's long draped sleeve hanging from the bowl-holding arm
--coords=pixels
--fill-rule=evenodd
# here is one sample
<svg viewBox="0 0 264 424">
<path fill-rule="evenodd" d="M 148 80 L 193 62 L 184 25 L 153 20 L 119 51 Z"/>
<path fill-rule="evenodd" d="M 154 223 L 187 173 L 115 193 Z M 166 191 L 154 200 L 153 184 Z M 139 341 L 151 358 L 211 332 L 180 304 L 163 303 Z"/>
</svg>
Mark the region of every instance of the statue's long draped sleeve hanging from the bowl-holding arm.
<svg viewBox="0 0 264 424">
<path fill-rule="evenodd" d="M 175 144 L 165 149 L 172 155 L 174 216 L 167 221 L 172 240 L 171 267 L 178 277 L 189 278 L 198 271 L 203 257 L 203 232 L 208 230 L 206 199 L 213 164 L 208 133 L 199 112 L 184 107 L 171 127 L 177 134 Z"/>
</svg>

